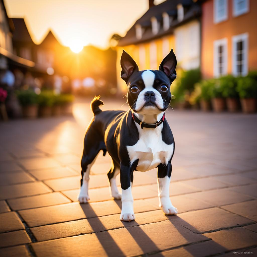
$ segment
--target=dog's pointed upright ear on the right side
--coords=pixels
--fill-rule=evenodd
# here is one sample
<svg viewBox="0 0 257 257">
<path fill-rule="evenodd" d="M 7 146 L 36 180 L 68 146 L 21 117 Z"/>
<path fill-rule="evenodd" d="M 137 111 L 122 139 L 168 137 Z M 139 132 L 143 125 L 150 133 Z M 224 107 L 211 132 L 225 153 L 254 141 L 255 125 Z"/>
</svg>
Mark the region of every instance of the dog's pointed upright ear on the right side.
<svg viewBox="0 0 257 257">
<path fill-rule="evenodd" d="M 171 83 L 177 77 L 176 66 L 177 66 L 177 59 L 175 54 L 173 53 L 173 49 L 171 49 L 171 51 L 162 60 L 159 66 L 159 70 L 163 71 L 168 76 Z"/>
</svg>

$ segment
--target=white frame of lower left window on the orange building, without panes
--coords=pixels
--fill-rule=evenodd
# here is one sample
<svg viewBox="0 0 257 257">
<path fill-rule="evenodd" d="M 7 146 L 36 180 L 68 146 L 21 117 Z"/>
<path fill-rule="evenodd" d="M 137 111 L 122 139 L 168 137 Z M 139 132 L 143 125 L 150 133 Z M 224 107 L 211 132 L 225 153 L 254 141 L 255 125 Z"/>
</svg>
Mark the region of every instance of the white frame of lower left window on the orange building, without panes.
<svg viewBox="0 0 257 257">
<path fill-rule="evenodd" d="M 224 63 L 224 69 L 222 73 L 219 73 L 219 60 L 218 60 L 218 47 L 223 46 L 224 54 L 223 54 L 223 63 Z M 213 75 L 214 77 L 218 78 L 221 76 L 227 75 L 227 38 L 215 40 L 213 42 Z"/>
</svg>

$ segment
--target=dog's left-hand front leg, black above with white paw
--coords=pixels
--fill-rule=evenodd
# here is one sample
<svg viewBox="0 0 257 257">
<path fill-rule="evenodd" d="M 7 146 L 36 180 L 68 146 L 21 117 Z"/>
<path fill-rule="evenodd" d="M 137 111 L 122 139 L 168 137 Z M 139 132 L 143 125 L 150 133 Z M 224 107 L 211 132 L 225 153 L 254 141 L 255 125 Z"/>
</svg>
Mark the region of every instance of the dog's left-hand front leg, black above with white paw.
<svg viewBox="0 0 257 257">
<path fill-rule="evenodd" d="M 132 182 L 131 176 L 133 173 L 132 167 L 121 164 L 121 188 L 122 188 L 122 208 L 121 208 L 121 221 L 133 221 L 135 219 L 133 209 L 133 196 L 132 196 Z"/>
</svg>

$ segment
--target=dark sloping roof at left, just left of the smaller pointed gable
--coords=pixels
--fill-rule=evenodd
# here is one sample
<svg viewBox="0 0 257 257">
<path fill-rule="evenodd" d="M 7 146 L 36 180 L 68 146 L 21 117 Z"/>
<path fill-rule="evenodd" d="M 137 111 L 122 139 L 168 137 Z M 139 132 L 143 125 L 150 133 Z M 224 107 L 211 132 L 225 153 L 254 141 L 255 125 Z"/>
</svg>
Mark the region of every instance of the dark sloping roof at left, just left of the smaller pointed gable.
<svg viewBox="0 0 257 257">
<path fill-rule="evenodd" d="M 13 41 L 34 43 L 27 29 L 23 18 L 12 18 L 15 30 L 13 32 Z"/>
</svg>

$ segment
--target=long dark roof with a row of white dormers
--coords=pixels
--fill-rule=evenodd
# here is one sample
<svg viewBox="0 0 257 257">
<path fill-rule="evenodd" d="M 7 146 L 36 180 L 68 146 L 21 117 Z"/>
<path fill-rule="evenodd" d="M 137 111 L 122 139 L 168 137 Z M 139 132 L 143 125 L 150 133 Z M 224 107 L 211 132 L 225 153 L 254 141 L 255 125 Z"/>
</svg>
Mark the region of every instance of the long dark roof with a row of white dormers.
<svg viewBox="0 0 257 257">
<path fill-rule="evenodd" d="M 177 18 L 177 5 L 182 4 L 184 7 L 184 17 L 183 20 L 178 22 L 177 19 L 173 19 L 168 30 L 164 30 L 162 26 L 162 14 L 164 12 L 168 13 L 170 16 Z M 154 5 L 148 9 L 144 13 L 142 17 L 140 17 L 135 24 L 127 31 L 127 34 L 120 39 L 118 46 L 124 46 L 129 44 L 137 44 L 142 43 L 144 41 L 152 40 L 155 38 L 159 38 L 166 34 L 172 34 L 173 29 L 177 26 L 188 22 L 189 20 L 200 16 L 201 7 L 199 2 L 195 2 L 193 0 L 167 0 L 159 5 Z M 161 23 L 160 29 L 157 34 L 152 33 L 151 28 L 151 18 L 156 17 L 156 19 Z M 143 35 L 141 39 L 136 38 L 136 30 L 135 27 L 137 24 L 140 24 L 143 29 Z"/>
</svg>

